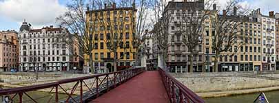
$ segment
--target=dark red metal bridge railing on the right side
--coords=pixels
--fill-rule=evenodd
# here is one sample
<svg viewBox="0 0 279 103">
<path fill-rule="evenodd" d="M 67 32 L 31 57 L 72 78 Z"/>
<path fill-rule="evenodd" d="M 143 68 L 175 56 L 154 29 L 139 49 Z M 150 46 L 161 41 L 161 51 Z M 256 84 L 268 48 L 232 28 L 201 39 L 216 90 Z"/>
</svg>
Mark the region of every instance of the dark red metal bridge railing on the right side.
<svg viewBox="0 0 279 103">
<path fill-rule="evenodd" d="M 184 102 L 204 103 L 205 102 L 202 98 L 196 95 L 196 93 L 188 89 L 184 84 L 176 80 L 176 78 L 171 76 L 163 69 L 159 68 L 158 71 L 162 77 L 170 102 L 172 103 L 184 103 Z"/>
</svg>

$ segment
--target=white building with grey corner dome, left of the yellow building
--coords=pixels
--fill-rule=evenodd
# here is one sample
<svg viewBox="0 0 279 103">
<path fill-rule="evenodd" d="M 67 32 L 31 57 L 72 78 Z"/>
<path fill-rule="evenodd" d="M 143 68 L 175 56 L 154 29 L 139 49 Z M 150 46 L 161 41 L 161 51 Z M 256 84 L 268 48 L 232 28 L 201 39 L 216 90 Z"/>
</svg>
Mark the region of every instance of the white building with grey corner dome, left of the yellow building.
<svg viewBox="0 0 279 103">
<path fill-rule="evenodd" d="M 61 27 L 43 27 L 31 29 L 31 25 L 23 22 L 19 30 L 20 71 L 70 71 L 72 52 L 67 38 L 60 35 L 69 33 Z"/>
</svg>

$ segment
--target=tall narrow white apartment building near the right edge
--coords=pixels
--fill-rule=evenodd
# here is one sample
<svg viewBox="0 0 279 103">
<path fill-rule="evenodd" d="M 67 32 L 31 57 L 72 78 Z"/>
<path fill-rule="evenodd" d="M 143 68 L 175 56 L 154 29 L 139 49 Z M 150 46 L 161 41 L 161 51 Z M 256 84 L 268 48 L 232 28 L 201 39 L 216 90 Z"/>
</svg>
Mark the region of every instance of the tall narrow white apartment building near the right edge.
<svg viewBox="0 0 279 103">
<path fill-rule="evenodd" d="M 260 13 L 260 9 L 254 10 L 254 16 L 261 23 L 262 32 L 262 71 L 276 70 L 276 19 L 274 12 L 269 12 L 269 16 Z"/>
</svg>

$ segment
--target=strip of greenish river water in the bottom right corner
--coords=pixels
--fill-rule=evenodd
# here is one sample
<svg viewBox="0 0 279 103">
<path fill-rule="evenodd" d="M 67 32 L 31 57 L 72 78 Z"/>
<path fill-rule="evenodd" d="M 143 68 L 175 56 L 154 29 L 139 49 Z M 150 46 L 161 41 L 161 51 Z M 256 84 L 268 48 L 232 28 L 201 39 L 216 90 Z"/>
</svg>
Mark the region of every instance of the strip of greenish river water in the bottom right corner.
<svg viewBox="0 0 279 103">
<path fill-rule="evenodd" d="M 264 92 L 269 103 L 279 103 L 279 91 Z M 207 103 L 253 103 L 260 93 L 249 93 L 245 95 L 233 95 L 220 98 L 205 98 Z"/>
</svg>

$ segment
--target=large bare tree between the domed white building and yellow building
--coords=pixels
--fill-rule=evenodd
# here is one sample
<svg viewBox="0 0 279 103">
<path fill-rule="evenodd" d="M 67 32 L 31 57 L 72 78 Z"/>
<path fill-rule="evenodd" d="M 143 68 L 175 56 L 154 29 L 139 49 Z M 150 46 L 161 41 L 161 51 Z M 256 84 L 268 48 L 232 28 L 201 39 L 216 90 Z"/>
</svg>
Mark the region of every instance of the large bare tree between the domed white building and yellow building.
<svg viewBox="0 0 279 103">
<path fill-rule="evenodd" d="M 81 54 L 89 56 L 89 65 L 91 72 L 94 73 L 93 54 L 95 41 L 94 35 L 98 33 L 96 23 L 91 19 L 92 14 L 87 14 L 87 11 L 101 8 L 98 0 L 72 0 L 67 5 L 67 12 L 56 18 L 61 26 L 67 27 L 70 34 L 67 34 L 70 45 L 76 42 L 77 47 L 81 49 Z"/>
</svg>

